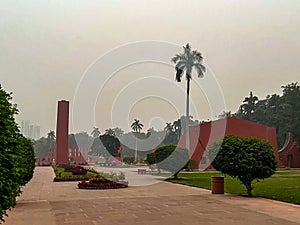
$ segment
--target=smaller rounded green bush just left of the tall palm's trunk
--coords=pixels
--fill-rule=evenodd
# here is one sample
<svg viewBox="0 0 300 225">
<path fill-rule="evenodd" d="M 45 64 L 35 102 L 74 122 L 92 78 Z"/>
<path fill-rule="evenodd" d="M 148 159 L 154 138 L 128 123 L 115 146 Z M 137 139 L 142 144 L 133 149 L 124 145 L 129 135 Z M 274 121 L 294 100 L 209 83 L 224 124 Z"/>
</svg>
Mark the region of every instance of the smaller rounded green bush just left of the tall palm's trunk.
<svg viewBox="0 0 300 225">
<path fill-rule="evenodd" d="M 159 169 L 170 171 L 177 178 L 180 170 L 186 168 L 189 163 L 189 152 L 175 145 L 162 146 L 147 155 L 147 162 L 155 162 Z"/>
</svg>

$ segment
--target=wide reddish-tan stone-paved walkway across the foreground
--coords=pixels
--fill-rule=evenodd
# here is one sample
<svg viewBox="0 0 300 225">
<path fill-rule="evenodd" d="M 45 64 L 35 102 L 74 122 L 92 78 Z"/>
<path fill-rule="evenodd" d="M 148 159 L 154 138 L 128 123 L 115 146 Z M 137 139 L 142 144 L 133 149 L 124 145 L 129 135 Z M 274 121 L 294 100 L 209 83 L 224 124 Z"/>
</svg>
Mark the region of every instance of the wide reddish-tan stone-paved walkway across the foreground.
<svg viewBox="0 0 300 225">
<path fill-rule="evenodd" d="M 300 206 L 273 200 L 212 195 L 167 182 L 81 190 L 77 182 L 52 179 L 51 168 L 36 168 L 4 225 L 300 224 Z"/>
</svg>

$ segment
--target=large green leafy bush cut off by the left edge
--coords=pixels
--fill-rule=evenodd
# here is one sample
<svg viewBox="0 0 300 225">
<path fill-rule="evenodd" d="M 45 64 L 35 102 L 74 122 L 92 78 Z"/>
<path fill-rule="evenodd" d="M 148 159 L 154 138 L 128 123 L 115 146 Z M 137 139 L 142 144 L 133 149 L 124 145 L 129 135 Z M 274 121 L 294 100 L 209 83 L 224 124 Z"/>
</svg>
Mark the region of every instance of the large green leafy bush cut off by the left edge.
<svg viewBox="0 0 300 225">
<path fill-rule="evenodd" d="M 11 94 L 0 86 L 0 221 L 15 206 L 35 164 L 32 143 L 20 134 L 14 119 L 18 110 L 11 100 Z"/>
</svg>

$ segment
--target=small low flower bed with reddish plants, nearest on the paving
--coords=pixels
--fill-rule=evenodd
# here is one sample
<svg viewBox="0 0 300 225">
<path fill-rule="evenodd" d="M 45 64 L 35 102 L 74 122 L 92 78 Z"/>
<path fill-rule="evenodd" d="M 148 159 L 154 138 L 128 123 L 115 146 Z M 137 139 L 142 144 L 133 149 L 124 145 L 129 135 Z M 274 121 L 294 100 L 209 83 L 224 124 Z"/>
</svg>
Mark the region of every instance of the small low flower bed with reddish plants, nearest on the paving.
<svg viewBox="0 0 300 225">
<path fill-rule="evenodd" d="M 127 181 L 121 180 L 116 182 L 104 177 L 93 177 L 89 181 L 82 181 L 78 183 L 79 189 L 117 189 L 127 187 Z"/>
</svg>

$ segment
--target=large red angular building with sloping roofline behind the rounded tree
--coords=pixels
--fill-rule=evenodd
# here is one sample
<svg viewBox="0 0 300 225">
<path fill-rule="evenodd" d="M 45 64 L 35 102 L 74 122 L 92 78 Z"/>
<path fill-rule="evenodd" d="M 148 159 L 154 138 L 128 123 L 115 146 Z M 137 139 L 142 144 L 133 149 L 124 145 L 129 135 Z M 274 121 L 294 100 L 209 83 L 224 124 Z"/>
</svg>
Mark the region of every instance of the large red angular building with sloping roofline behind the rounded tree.
<svg viewBox="0 0 300 225">
<path fill-rule="evenodd" d="M 213 122 L 203 123 L 190 128 L 190 157 L 193 169 L 206 169 L 210 162 L 205 155 L 205 149 L 213 142 L 226 135 L 240 137 L 256 137 L 272 144 L 274 154 L 278 158 L 276 129 L 247 120 L 230 117 Z M 180 139 L 179 146 L 185 147 L 185 133 Z"/>
</svg>

